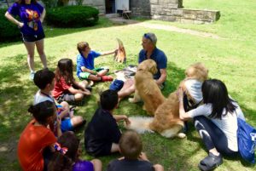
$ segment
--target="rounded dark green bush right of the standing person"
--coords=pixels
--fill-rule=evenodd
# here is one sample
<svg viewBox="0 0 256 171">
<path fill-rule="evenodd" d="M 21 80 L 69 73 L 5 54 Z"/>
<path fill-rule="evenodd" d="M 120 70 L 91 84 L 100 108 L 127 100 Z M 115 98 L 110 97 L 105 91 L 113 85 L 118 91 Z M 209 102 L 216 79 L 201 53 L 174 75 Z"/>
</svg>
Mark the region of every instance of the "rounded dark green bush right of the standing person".
<svg viewBox="0 0 256 171">
<path fill-rule="evenodd" d="M 94 26 L 99 10 L 88 6 L 65 6 L 46 10 L 46 22 L 58 27 Z"/>
</svg>

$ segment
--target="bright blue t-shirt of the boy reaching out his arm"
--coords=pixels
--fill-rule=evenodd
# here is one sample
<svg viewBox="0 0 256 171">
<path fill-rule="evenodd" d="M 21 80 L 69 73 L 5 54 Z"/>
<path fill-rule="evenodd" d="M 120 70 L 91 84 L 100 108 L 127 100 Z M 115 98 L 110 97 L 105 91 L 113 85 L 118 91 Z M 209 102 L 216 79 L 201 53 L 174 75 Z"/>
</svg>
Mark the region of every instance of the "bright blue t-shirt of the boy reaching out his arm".
<svg viewBox="0 0 256 171">
<path fill-rule="evenodd" d="M 99 57 L 101 54 L 98 52 L 95 52 L 93 50 L 90 50 L 90 53 L 88 54 L 87 58 L 83 56 L 83 54 L 78 54 L 77 56 L 77 76 L 79 77 L 79 73 L 83 72 L 81 67 L 84 66 L 85 68 L 89 70 L 94 69 L 94 59 L 96 57 Z"/>
</svg>

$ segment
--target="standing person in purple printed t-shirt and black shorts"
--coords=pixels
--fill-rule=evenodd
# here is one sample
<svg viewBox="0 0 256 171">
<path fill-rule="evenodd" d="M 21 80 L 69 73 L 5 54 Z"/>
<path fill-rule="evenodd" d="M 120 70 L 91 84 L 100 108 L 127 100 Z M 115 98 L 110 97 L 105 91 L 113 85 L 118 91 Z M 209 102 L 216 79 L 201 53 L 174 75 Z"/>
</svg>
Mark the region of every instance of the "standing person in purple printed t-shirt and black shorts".
<svg viewBox="0 0 256 171">
<path fill-rule="evenodd" d="M 14 16 L 18 15 L 20 21 Z M 44 65 L 47 67 L 46 56 L 44 54 L 44 29 L 42 22 L 44 21 L 45 9 L 37 3 L 37 0 L 19 0 L 9 7 L 5 13 L 5 17 L 20 28 L 22 41 L 27 51 L 27 63 L 30 73 L 30 79 L 35 74 L 34 69 L 34 51 L 37 46 L 38 54 Z"/>
</svg>

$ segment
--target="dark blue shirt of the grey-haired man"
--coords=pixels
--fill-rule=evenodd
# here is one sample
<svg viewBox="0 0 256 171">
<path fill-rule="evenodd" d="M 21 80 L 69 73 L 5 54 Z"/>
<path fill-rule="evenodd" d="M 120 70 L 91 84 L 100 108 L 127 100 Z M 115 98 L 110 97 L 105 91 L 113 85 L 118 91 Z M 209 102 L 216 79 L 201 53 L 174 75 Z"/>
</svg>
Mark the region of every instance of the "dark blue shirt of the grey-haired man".
<svg viewBox="0 0 256 171">
<path fill-rule="evenodd" d="M 159 48 L 154 48 L 154 51 L 151 54 L 150 59 L 154 60 L 157 66 L 157 73 L 154 74 L 154 79 L 159 79 L 161 76 L 160 69 L 166 69 L 167 67 L 166 54 Z M 147 51 L 145 51 L 144 49 L 142 49 L 139 53 L 138 63 L 143 62 L 143 60 L 148 60 Z"/>
</svg>

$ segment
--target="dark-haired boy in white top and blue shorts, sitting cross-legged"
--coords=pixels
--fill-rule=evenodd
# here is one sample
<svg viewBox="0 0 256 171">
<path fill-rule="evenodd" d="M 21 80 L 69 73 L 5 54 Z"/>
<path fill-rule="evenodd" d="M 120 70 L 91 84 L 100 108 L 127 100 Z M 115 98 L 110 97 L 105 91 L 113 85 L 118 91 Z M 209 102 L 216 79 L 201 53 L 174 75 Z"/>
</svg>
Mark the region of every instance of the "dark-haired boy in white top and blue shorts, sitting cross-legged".
<svg viewBox="0 0 256 171">
<path fill-rule="evenodd" d="M 49 71 L 48 69 L 37 71 L 34 76 L 34 83 L 39 88 L 34 97 L 34 105 L 45 100 L 55 103 L 54 98 L 51 96 L 51 91 L 55 87 L 55 73 L 53 71 Z M 62 132 L 71 131 L 73 128 L 85 123 L 83 117 L 73 115 L 73 110 L 70 110 L 66 101 L 62 101 L 60 105 L 55 104 L 55 106 L 57 107 L 58 117 L 61 119 Z M 53 127 L 52 125 L 50 126 L 51 128 Z"/>
</svg>

